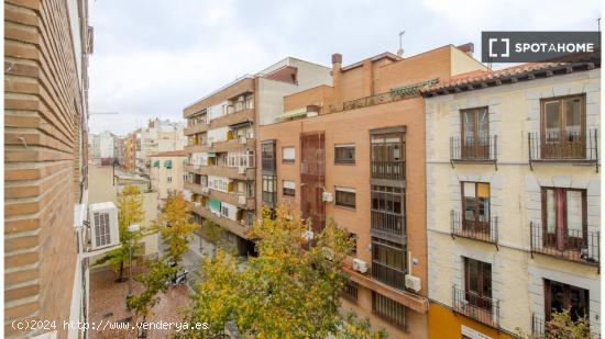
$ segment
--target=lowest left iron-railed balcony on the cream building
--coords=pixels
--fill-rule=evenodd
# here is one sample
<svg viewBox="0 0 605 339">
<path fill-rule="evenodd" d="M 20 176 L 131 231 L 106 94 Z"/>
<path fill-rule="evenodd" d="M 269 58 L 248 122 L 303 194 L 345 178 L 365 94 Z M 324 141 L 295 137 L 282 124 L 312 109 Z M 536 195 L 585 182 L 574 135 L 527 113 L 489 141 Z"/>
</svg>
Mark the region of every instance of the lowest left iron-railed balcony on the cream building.
<svg viewBox="0 0 605 339">
<path fill-rule="evenodd" d="M 499 301 L 452 286 L 452 308 L 455 313 L 493 328 L 499 328 Z"/>
</svg>

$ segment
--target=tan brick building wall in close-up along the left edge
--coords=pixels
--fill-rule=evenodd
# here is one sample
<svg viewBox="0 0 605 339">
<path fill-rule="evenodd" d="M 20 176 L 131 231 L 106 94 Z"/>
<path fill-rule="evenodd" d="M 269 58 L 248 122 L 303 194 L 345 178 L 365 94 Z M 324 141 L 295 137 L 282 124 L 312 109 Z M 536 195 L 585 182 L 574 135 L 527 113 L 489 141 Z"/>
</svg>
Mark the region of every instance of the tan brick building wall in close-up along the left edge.
<svg viewBox="0 0 605 339">
<path fill-rule="evenodd" d="M 88 2 L 4 3 L 4 336 L 76 338 L 87 320 Z M 81 210 L 79 210 L 81 211 Z M 13 320 L 50 320 L 32 330 Z"/>
</svg>

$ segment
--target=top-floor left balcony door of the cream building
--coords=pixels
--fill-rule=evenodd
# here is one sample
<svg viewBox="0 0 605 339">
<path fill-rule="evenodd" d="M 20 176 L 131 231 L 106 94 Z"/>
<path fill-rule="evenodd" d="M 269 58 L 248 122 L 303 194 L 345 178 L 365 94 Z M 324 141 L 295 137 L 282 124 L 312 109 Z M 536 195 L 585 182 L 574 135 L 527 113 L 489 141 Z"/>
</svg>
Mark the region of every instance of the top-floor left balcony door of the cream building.
<svg viewBox="0 0 605 339">
<path fill-rule="evenodd" d="M 461 113 L 463 159 L 490 158 L 490 114 L 487 108 L 463 110 Z"/>
</svg>

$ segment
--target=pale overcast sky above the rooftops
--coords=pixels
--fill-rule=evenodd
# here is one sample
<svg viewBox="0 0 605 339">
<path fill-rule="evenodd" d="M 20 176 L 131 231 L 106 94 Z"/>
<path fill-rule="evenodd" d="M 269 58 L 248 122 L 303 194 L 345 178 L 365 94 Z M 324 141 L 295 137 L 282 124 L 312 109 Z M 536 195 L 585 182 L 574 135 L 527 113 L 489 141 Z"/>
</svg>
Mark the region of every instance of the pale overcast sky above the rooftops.
<svg viewBox="0 0 605 339">
<path fill-rule="evenodd" d="M 482 31 L 595 31 L 598 0 L 89 0 L 90 131 L 127 134 L 245 74 L 293 56 L 330 66 L 475 44 Z M 95 112 L 119 112 L 95 115 Z"/>
</svg>

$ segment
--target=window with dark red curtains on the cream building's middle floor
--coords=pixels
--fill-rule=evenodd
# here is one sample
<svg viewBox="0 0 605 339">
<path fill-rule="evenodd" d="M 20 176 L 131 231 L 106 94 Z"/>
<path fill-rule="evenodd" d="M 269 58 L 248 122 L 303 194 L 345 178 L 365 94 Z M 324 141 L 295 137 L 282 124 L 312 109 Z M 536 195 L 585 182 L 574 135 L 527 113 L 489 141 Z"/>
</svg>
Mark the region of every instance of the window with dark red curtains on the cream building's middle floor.
<svg viewBox="0 0 605 339">
<path fill-rule="evenodd" d="M 547 247 L 580 249 L 586 244 L 586 191 L 542 188 L 542 231 Z"/>
</svg>

